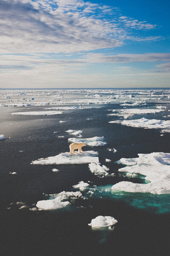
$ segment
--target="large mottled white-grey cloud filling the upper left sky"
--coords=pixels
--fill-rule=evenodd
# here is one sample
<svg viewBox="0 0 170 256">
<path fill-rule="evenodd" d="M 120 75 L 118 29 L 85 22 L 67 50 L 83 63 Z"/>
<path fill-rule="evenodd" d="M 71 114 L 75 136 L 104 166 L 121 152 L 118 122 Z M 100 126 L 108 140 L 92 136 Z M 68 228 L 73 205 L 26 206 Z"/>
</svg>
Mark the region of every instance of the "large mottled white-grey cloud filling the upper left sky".
<svg viewBox="0 0 170 256">
<path fill-rule="evenodd" d="M 1 53 L 113 48 L 122 46 L 133 28 L 156 28 L 120 16 L 119 9 L 83 0 L 1 0 L 0 24 Z M 137 41 L 134 36 L 131 40 Z"/>
</svg>

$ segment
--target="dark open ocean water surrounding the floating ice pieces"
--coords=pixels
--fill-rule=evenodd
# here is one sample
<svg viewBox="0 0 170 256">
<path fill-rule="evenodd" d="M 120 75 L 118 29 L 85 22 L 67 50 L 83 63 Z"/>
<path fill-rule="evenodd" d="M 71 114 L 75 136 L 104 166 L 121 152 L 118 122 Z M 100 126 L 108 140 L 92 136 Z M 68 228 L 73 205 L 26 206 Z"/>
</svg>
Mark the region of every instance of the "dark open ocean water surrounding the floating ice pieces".
<svg viewBox="0 0 170 256">
<path fill-rule="evenodd" d="M 103 195 L 101 198 L 96 193 L 88 199 L 77 199 L 66 209 L 29 210 L 32 204 L 45 200 L 45 194 L 73 191 L 72 186 L 82 180 L 91 181 L 91 184 L 100 188 L 122 180 L 143 183 L 144 180 L 139 177 L 128 179 L 119 175 L 120 165 L 114 162 L 122 157 L 138 157 L 138 153 L 170 153 L 168 133 L 160 137 L 157 129 L 108 123 L 120 119 L 107 116 L 108 109 L 118 107 L 118 104 L 102 105 L 98 109 L 65 111 L 62 116 L 13 116 L 11 112 L 25 109 L 0 108 L 0 132 L 7 138 L 0 140 L 0 255 L 169 255 L 170 208 L 167 206 L 168 209 L 164 211 L 169 199 L 167 195 L 150 195 L 145 200 L 138 195 L 128 197 L 125 194 Z M 31 107 L 29 111 L 43 109 Z M 163 119 L 162 115 L 150 114 L 147 118 Z M 133 116 L 133 119 L 136 118 L 141 116 Z M 59 120 L 66 122 L 59 123 Z M 31 165 L 33 160 L 68 151 L 68 138 L 71 137 L 65 133 L 68 129 L 83 130 L 84 138 L 104 136 L 107 145 L 93 148 L 86 146 L 84 150 L 98 151 L 100 163 L 108 166 L 115 176 L 99 178 L 90 172 L 88 164 Z M 117 152 L 109 152 L 107 148 L 116 148 Z M 111 163 L 106 163 L 105 158 L 111 159 Z M 52 172 L 53 168 L 60 171 Z M 17 172 L 17 175 L 10 175 L 9 172 Z M 149 207 L 148 201 L 155 205 Z M 17 202 L 24 202 L 28 208 L 19 210 Z M 88 223 L 98 215 L 116 218 L 118 223 L 114 230 L 92 230 Z"/>
</svg>

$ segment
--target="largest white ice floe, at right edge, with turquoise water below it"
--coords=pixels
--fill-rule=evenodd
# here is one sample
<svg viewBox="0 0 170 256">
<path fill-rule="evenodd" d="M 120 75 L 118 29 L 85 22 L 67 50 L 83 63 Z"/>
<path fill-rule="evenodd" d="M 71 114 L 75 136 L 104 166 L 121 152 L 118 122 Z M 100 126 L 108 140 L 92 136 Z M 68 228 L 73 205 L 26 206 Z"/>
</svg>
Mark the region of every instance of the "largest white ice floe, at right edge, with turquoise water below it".
<svg viewBox="0 0 170 256">
<path fill-rule="evenodd" d="M 139 184 L 121 181 L 112 186 L 112 190 L 125 192 L 143 192 L 151 194 L 170 194 L 170 153 L 138 154 L 137 158 L 121 158 L 116 163 L 126 167 L 119 172 L 139 173 L 146 176 L 150 183 Z"/>
</svg>

